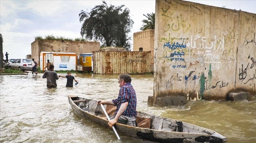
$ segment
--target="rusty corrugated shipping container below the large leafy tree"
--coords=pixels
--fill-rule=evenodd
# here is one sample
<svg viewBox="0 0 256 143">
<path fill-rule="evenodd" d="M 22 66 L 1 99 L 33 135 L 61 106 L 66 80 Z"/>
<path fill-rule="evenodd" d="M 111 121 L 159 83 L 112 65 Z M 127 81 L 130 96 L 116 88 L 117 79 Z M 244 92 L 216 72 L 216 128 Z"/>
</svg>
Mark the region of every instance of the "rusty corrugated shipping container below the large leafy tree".
<svg viewBox="0 0 256 143">
<path fill-rule="evenodd" d="M 151 52 L 93 52 L 96 74 L 150 73 Z"/>
</svg>

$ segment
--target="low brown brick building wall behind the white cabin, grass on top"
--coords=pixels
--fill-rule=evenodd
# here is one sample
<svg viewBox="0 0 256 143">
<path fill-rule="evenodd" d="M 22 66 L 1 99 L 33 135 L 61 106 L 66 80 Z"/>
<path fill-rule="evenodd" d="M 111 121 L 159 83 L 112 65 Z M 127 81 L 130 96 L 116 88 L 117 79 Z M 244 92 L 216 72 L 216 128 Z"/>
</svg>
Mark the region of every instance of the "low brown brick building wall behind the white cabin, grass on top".
<svg viewBox="0 0 256 143">
<path fill-rule="evenodd" d="M 72 52 L 77 55 L 99 51 L 99 42 L 36 40 L 31 43 L 31 57 L 39 61 L 40 52 Z"/>
</svg>

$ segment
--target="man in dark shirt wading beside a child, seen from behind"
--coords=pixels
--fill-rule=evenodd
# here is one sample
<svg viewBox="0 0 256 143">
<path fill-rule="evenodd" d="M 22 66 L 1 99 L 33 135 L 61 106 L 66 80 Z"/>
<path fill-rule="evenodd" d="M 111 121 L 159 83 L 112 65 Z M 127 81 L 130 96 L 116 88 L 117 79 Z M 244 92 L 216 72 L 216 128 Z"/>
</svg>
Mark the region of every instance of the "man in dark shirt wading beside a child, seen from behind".
<svg viewBox="0 0 256 143">
<path fill-rule="evenodd" d="M 44 72 L 43 79 L 47 78 L 47 88 L 57 88 L 56 80 L 59 79 L 57 73 L 54 70 L 54 66 L 50 65 L 50 69 Z"/>
</svg>

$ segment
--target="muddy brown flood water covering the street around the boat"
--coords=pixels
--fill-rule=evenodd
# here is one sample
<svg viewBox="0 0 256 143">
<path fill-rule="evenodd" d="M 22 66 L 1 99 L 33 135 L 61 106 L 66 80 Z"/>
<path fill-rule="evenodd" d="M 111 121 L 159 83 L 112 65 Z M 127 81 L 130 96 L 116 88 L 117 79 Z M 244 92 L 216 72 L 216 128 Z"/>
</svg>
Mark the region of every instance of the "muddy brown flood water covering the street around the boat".
<svg viewBox="0 0 256 143">
<path fill-rule="evenodd" d="M 121 132 L 117 141 L 111 129 L 78 116 L 68 102 L 68 95 L 116 98 L 118 75 L 72 74 L 79 84 L 66 88 L 66 78 L 60 77 L 57 89 L 47 89 L 42 75 L 0 76 L 1 143 L 136 142 Z M 138 111 L 217 131 L 228 138 L 227 143 L 256 142 L 255 97 L 252 101 L 188 101 L 179 107 L 152 107 L 147 98 L 153 95 L 153 75 L 132 75 L 132 85 Z"/>
</svg>

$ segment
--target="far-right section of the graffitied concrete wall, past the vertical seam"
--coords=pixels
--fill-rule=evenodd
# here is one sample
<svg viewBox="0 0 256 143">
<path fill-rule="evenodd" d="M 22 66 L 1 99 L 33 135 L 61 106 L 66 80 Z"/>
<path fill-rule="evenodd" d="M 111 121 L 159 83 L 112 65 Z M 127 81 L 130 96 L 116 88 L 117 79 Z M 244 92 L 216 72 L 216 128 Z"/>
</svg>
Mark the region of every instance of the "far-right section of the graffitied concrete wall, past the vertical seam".
<svg viewBox="0 0 256 143">
<path fill-rule="evenodd" d="M 256 94 L 256 14 L 239 12 L 236 90 Z M 234 68 L 232 68 L 234 69 Z"/>
</svg>

